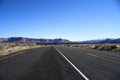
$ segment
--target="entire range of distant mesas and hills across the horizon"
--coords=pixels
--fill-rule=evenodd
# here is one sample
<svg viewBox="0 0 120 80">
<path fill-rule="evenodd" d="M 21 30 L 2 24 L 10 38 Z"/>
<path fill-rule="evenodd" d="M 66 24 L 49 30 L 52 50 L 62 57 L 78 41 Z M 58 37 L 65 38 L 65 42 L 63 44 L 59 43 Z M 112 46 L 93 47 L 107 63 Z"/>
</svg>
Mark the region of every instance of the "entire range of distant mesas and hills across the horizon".
<svg viewBox="0 0 120 80">
<path fill-rule="evenodd" d="M 70 41 L 68 39 L 35 39 L 25 37 L 10 37 L 0 38 L 0 43 L 72 43 L 72 44 L 92 44 L 92 43 L 120 43 L 120 38 L 117 39 L 104 39 L 104 40 L 87 40 L 87 41 Z"/>
</svg>

